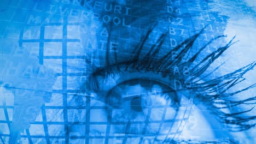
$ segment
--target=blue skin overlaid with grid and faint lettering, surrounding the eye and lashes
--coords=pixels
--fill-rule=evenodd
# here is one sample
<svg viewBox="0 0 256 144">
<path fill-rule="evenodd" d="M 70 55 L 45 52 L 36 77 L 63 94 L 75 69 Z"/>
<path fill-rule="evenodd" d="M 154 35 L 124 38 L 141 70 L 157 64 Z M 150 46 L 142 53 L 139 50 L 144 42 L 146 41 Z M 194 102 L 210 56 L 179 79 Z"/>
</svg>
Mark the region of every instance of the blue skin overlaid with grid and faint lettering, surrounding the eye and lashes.
<svg viewBox="0 0 256 144">
<path fill-rule="evenodd" d="M 50 1 L 8 2 L 9 7 L 1 13 L 0 35 L 4 40 L 0 71 L 1 81 L 10 91 L 1 92 L 5 102 L 0 106 L 0 114 L 4 115 L 0 117 L 0 128 L 4 129 L 0 143 L 8 143 L 10 136 L 13 143 L 153 143 L 181 139 L 187 121 L 192 123 L 188 129 L 193 130 L 197 119 L 189 119 L 192 109 L 189 100 L 183 101 L 180 113 L 174 116 L 173 107 L 167 107 L 167 103 L 152 104 L 143 111 L 145 121 L 135 119 L 129 111 L 120 112 L 115 105 L 94 100 L 80 89 L 86 76 L 94 70 L 91 65 L 109 64 L 102 61 L 106 51 L 113 55 L 121 53 L 119 59 L 129 58 L 132 47 L 150 30 L 150 23 L 158 22 L 158 25 L 152 32 L 154 37 L 146 41 L 149 47 L 158 43 L 161 34 L 168 34 L 161 45 L 164 48 L 159 51 L 162 54 L 205 27 L 194 44 L 195 51 L 223 34 L 227 16 L 203 11 L 205 3 L 195 3 L 202 7 L 199 10 L 179 2 L 148 4 L 136 0 L 113 2 L 111 6 L 104 5 L 106 1 L 52 1 L 53 5 L 49 5 Z M 166 13 L 172 16 L 162 20 Z M 98 26 L 100 22 L 104 27 Z M 222 40 L 217 43 L 226 44 Z M 214 51 L 213 48 L 207 47 L 202 58 Z M 109 59 L 110 63 L 115 62 L 112 56 Z M 30 85 L 21 85 L 24 81 Z M 138 94 L 136 86 L 132 89 L 126 94 Z M 33 97 L 36 95 L 41 97 Z M 133 102 L 136 109 L 137 101 Z M 18 123 L 14 125 L 15 122 Z"/>
</svg>

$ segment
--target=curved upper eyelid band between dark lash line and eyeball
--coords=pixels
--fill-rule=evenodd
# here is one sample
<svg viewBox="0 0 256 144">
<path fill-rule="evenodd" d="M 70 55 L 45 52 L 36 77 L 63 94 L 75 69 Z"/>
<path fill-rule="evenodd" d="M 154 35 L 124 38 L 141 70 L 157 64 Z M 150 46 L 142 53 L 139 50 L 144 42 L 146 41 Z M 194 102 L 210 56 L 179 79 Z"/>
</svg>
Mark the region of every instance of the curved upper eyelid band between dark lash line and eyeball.
<svg viewBox="0 0 256 144">
<path fill-rule="evenodd" d="M 106 69 L 104 69 L 104 70 L 106 70 Z M 168 98 L 171 98 L 172 100 L 174 100 L 174 102 L 177 103 L 178 107 L 182 106 L 182 104 L 181 104 L 182 97 L 184 97 L 185 99 L 188 99 L 188 100 L 186 100 L 187 102 L 191 101 L 191 100 L 189 100 L 189 99 L 191 99 L 191 93 L 189 93 L 189 94 L 182 93 L 182 91 L 188 91 L 186 88 L 178 89 L 178 90 L 174 89 L 170 83 L 173 81 L 171 81 L 168 77 L 163 77 L 161 73 L 156 74 L 156 73 L 153 73 L 152 71 L 146 71 L 146 72 L 133 71 L 132 72 L 132 71 L 123 70 L 123 71 L 119 71 L 119 72 L 111 71 L 111 74 L 105 75 L 105 73 L 103 72 L 104 70 L 101 69 L 101 72 L 103 73 L 103 75 L 101 75 L 100 73 L 95 73 L 95 75 L 92 75 L 93 79 L 96 79 L 96 81 L 101 81 L 101 82 L 99 82 L 100 83 L 99 87 L 101 87 L 100 90 L 95 92 L 97 95 L 96 99 L 98 99 L 98 100 L 101 100 L 101 101 L 104 100 L 104 98 L 107 97 L 108 93 L 112 89 L 114 89 L 118 85 L 121 85 L 122 83 L 126 83 L 126 82 L 129 82 L 132 80 L 139 81 L 139 80 L 144 79 L 144 80 L 149 80 L 149 81 L 155 81 L 156 83 L 162 83 L 163 85 L 170 87 L 170 89 L 165 88 L 164 91 L 161 91 L 161 92 L 157 92 L 157 93 L 154 92 L 154 94 L 161 94 L 161 93 L 170 93 L 171 94 L 171 93 L 173 93 L 174 95 L 172 95 L 172 96 L 169 95 L 170 97 L 168 97 Z M 112 75 L 112 73 L 114 73 L 114 74 Z M 115 74 L 115 73 L 118 73 L 118 74 Z M 100 77 L 97 77 L 97 76 L 100 76 Z M 106 86 L 106 83 L 104 83 L 102 80 L 97 80 L 97 79 L 104 79 L 103 81 L 106 81 L 106 82 L 114 80 L 115 83 L 109 83 L 109 85 Z M 112 80 L 110 80 L 110 79 L 112 79 Z M 89 82 L 89 83 L 91 83 L 91 82 Z M 148 94 L 149 94 L 149 92 L 147 92 L 145 94 L 129 95 L 129 97 L 125 97 L 122 99 L 123 99 L 123 101 L 129 101 L 136 97 L 146 97 Z M 184 102 L 184 104 L 185 103 L 187 104 L 187 102 Z M 190 103 L 190 104 L 192 104 L 192 103 Z"/>
</svg>

